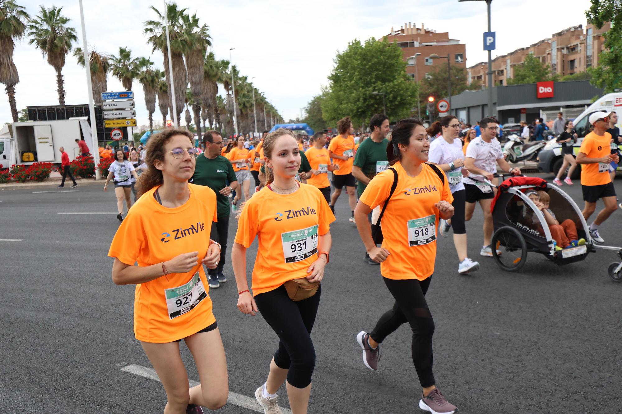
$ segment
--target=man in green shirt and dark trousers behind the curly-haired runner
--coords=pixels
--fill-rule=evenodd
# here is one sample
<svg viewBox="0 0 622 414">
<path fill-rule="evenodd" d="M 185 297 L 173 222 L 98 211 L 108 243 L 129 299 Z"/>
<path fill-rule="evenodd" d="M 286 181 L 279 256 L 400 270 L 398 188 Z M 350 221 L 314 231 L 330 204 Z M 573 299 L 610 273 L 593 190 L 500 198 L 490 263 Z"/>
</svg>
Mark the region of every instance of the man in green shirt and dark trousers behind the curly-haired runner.
<svg viewBox="0 0 622 414">
<path fill-rule="evenodd" d="M 238 179 L 233 171 L 233 165 L 228 159 L 220 155 L 223 147 L 223 137 L 217 131 L 207 131 L 203 135 L 203 146 L 205 152 L 197 158 L 197 166 L 192 176 L 192 183 L 206 185 L 216 193 L 216 213 L 218 221 L 211 223 L 210 237 L 213 241 L 219 242 L 220 262 L 216 269 L 207 269 L 207 283 L 211 288 L 220 287 L 220 283 L 226 282 L 227 278 L 223 274 L 225 265 L 225 253 L 227 248 L 227 237 L 229 234 L 229 195 L 231 191 L 239 187 Z"/>
</svg>

